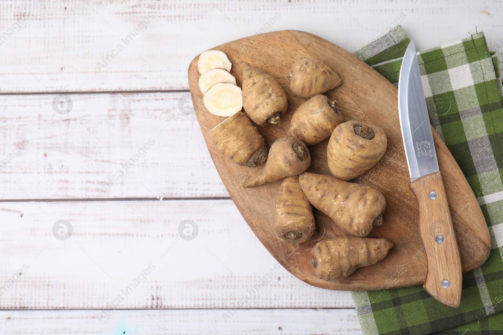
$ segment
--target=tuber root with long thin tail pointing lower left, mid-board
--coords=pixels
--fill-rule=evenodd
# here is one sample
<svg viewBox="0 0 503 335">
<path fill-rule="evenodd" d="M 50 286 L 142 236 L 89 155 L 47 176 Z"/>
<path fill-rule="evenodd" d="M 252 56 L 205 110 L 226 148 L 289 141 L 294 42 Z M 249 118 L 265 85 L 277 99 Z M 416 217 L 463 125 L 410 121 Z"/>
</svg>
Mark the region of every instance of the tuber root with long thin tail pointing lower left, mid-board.
<svg viewBox="0 0 503 335">
<path fill-rule="evenodd" d="M 292 136 L 282 137 L 269 149 L 266 164 L 251 171 L 243 187 L 254 187 L 296 176 L 307 170 L 310 164 L 309 150 L 302 141 Z"/>
</svg>

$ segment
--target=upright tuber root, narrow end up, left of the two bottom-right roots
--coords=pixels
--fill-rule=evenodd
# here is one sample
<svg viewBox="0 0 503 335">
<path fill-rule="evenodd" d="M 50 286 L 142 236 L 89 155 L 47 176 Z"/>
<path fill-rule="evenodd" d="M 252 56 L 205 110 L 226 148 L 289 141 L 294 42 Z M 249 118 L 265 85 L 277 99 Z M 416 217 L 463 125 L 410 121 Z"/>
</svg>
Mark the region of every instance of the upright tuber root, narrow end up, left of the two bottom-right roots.
<svg viewBox="0 0 503 335">
<path fill-rule="evenodd" d="M 286 177 L 276 198 L 274 234 L 285 243 L 299 244 L 309 240 L 315 231 L 313 210 L 300 187 L 299 177 Z"/>
</svg>

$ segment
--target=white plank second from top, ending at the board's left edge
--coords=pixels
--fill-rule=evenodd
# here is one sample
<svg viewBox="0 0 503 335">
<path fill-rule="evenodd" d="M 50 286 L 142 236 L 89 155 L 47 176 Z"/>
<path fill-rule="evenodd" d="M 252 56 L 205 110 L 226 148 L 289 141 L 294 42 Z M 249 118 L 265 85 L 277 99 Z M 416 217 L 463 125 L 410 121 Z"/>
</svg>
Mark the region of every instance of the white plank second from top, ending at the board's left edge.
<svg viewBox="0 0 503 335">
<path fill-rule="evenodd" d="M 0 199 L 228 196 L 187 94 L 0 95 Z"/>
</svg>

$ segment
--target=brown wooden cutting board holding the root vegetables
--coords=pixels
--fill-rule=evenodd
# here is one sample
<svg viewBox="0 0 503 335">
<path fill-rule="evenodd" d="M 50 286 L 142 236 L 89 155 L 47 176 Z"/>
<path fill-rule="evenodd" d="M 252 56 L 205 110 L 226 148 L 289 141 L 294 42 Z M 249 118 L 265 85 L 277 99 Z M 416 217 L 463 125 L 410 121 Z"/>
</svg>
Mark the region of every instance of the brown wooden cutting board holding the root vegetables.
<svg viewBox="0 0 503 335">
<path fill-rule="evenodd" d="M 231 73 L 236 77 L 238 86 L 242 87 L 240 61 L 245 61 L 277 78 L 287 92 L 288 111 L 281 117 L 281 124 L 257 126 L 268 147 L 278 138 L 286 136 L 293 112 L 306 100 L 292 94 L 286 77 L 292 64 L 304 57 L 319 59 L 342 77 L 342 85 L 325 94 L 337 100 L 345 121 L 368 121 L 384 129 L 387 135 L 388 147 L 382 160 L 353 181 L 376 187 L 384 194 L 384 224 L 374 228 L 369 237 L 386 238 L 394 246 L 382 261 L 360 268 L 344 280 L 320 280 L 310 263 L 311 248 L 323 239 L 345 234 L 332 228 L 330 218 L 313 208 L 317 232 L 310 241 L 289 245 L 274 236 L 271 224 L 281 180 L 255 188 L 242 187 L 251 168 L 230 162 L 208 135 L 208 131 L 225 118 L 210 114 L 204 107 L 203 95 L 198 86 L 199 56 L 194 58 L 189 67 L 189 84 L 208 150 L 232 200 L 251 230 L 276 260 L 297 278 L 327 289 L 377 290 L 422 284 L 426 276 L 427 259 L 417 228 L 417 200 L 408 186 L 409 175 L 398 121 L 398 89 L 349 52 L 305 32 L 271 32 L 232 41 L 214 49 L 223 51 L 231 60 Z M 489 232 L 477 199 L 458 164 L 435 131 L 433 135 L 461 251 L 463 272 L 468 272 L 483 264 L 489 256 Z M 310 147 L 312 163 L 308 171 L 330 174 L 326 160 L 327 143 L 328 139 Z"/>
</svg>

